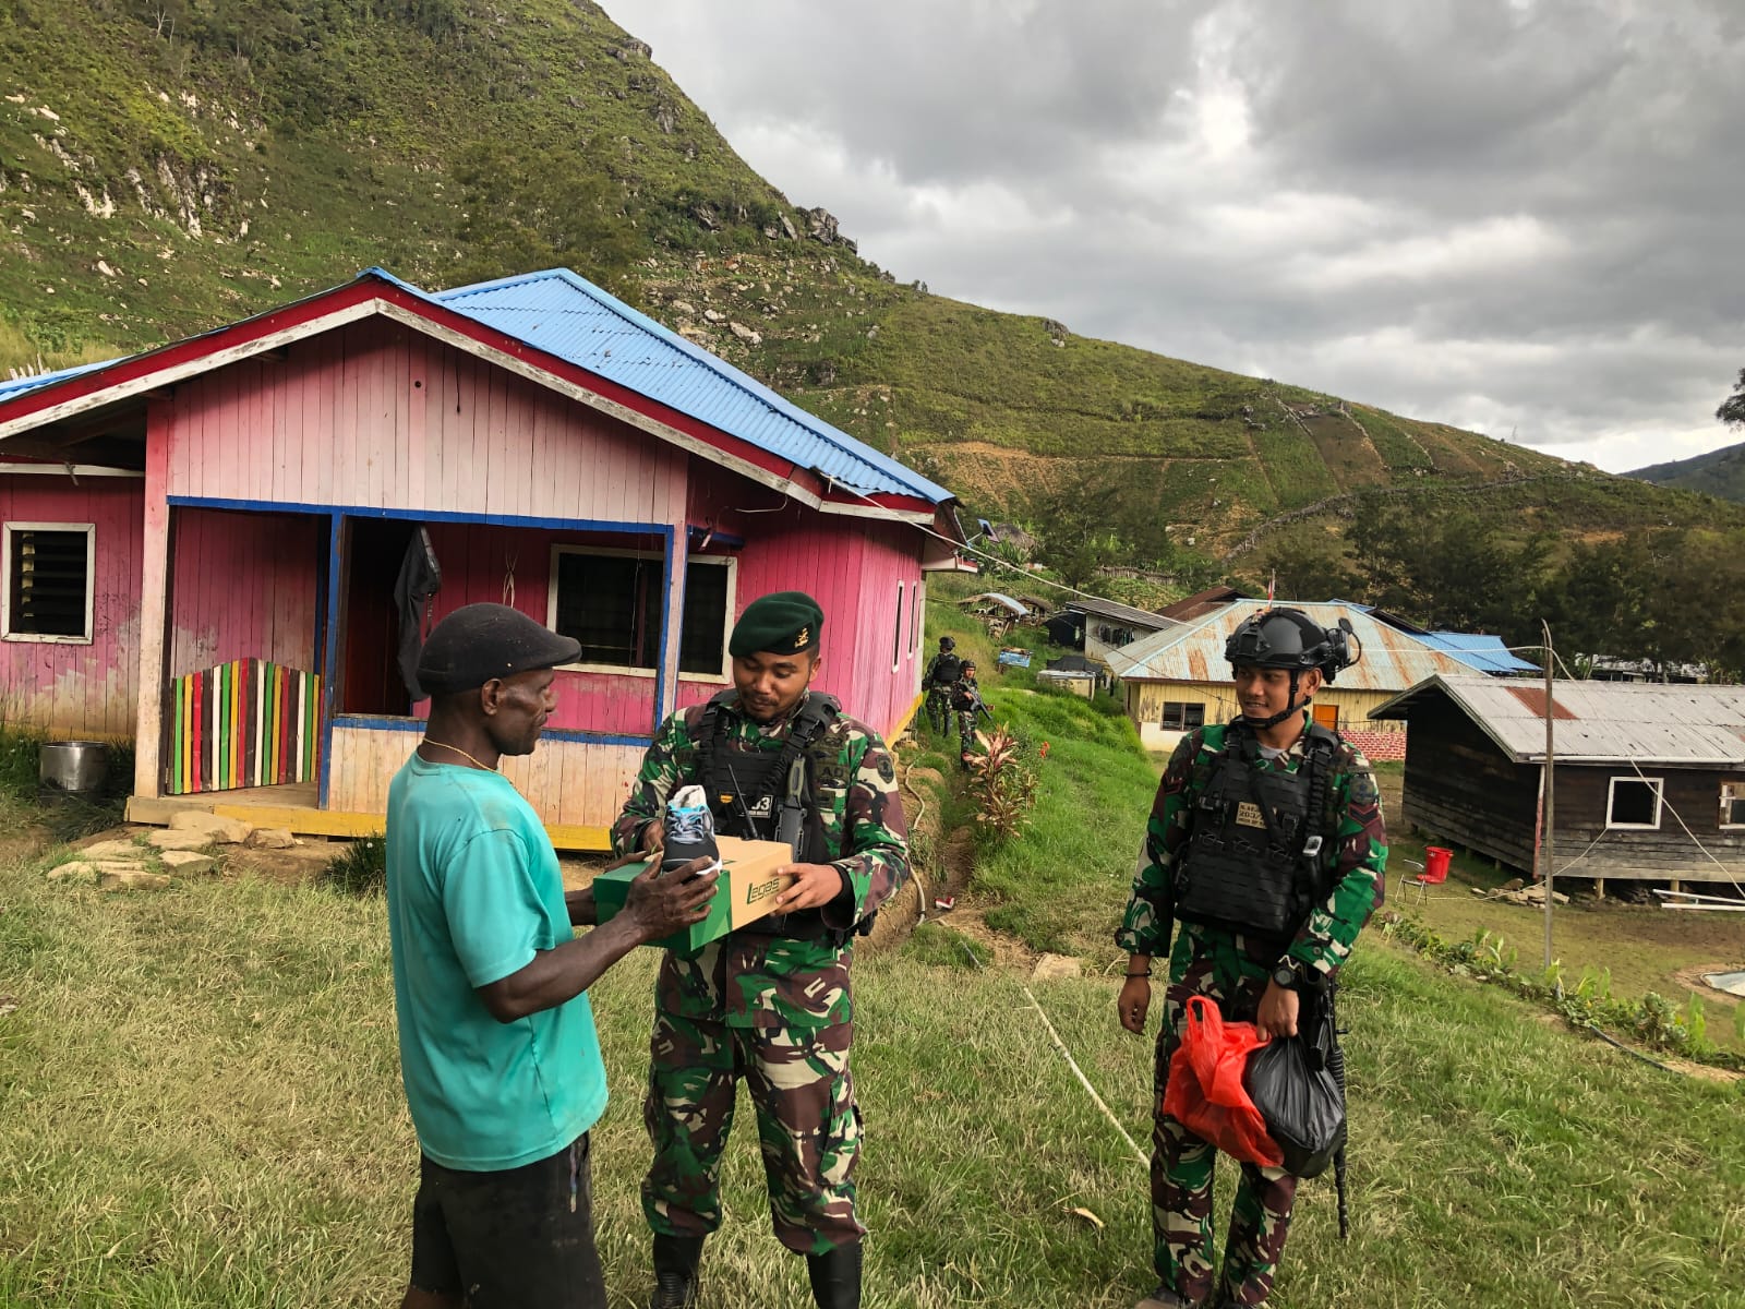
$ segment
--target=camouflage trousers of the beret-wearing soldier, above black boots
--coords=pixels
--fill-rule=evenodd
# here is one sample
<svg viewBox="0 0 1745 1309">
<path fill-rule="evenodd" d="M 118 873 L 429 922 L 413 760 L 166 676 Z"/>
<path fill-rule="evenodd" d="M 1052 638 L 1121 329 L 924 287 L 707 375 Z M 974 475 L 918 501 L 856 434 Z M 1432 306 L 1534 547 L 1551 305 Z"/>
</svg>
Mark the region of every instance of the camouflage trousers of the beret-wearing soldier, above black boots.
<svg viewBox="0 0 1745 1309">
<path fill-rule="evenodd" d="M 656 1011 L 642 1103 L 654 1145 L 642 1182 L 649 1227 L 707 1236 L 721 1225 L 721 1152 L 743 1077 L 777 1239 L 822 1255 L 866 1236 L 855 1218 L 860 1110 L 848 1073 L 852 1042 L 852 1023 L 756 1030 Z"/>
</svg>

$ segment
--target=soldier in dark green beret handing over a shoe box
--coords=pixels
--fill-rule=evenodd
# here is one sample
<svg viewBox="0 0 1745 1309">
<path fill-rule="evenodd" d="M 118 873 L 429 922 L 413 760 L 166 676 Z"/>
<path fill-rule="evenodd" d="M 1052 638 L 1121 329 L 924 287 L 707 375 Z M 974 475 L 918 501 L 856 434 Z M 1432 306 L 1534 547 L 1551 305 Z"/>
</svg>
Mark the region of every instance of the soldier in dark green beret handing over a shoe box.
<svg viewBox="0 0 1745 1309">
<path fill-rule="evenodd" d="M 810 689 L 822 628 L 824 611 L 803 592 L 747 606 L 728 642 L 733 688 L 661 724 L 612 827 L 619 853 L 661 848 L 663 808 L 684 785 L 705 789 L 722 834 L 771 840 L 797 827 L 796 862 L 784 869 L 796 881 L 775 915 L 661 958 L 644 1105 L 653 1309 L 695 1302 L 703 1241 L 721 1223 L 721 1152 L 742 1077 L 777 1237 L 806 1257 L 820 1309 L 860 1304 L 848 963 L 853 937 L 909 876 L 909 852 L 885 742 Z"/>
</svg>

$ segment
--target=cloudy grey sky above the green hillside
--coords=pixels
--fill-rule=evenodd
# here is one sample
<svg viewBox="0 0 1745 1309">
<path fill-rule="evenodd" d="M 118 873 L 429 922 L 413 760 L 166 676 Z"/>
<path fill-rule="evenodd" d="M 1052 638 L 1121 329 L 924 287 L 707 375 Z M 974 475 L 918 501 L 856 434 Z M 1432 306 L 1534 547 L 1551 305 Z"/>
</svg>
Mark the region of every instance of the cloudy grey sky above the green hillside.
<svg viewBox="0 0 1745 1309">
<path fill-rule="evenodd" d="M 900 281 L 1621 471 L 1736 440 L 1740 0 L 607 0 Z"/>
</svg>

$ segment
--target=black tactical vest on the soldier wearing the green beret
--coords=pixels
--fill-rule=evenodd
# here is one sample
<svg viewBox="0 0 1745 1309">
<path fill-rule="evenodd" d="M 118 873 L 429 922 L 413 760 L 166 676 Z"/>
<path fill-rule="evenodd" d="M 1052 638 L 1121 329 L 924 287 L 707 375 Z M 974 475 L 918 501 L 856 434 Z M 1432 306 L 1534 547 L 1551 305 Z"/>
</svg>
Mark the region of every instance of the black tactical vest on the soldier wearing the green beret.
<svg viewBox="0 0 1745 1309">
<path fill-rule="evenodd" d="M 750 841 L 782 840 L 778 834 L 782 810 L 797 806 L 799 840 L 794 862 L 831 862 L 824 817 L 813 803 L 818 792 L 818 761 L 811 747 L 836 724 L 843 707 L 832 696 L 811 691 L 794 714 L 787 742 L 780 750 L 733 750 L 728 749 L 726 737 L 740 714 L 738 700 L 738 691 L 721 691 L 710 698 L 698 721 L 696 773 L 708 792 L 715 833 Z M 796 763 L 803 768 L 801 791 L 789 794 L 789 777 Z M 832 935 L 818 909 L 770 915 L 740 930 L 747 935 L 784 935 L 801 941 L 822 941 Z"/>
</svg>

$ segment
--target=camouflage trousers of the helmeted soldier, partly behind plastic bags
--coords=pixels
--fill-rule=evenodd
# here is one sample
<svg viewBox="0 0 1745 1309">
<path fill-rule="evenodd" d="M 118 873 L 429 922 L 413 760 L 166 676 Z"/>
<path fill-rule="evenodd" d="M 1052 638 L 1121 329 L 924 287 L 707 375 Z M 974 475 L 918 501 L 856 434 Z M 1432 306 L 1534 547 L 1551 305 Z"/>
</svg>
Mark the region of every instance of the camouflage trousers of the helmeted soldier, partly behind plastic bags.
<svg viewBox="0 0 1745 1309">
<path fill-rule="evenodd" d="M 1213 1290 L 1213 1166 L 1218 1150 L 1164 1114 L 1169 1059 L 1194 995 L 1209 995 L 1227 1021 L 1251 1023 L 1267 990 L 1267 965 L 1237 939 L 1201 930 L 1178 941 L 1157 1033 L 1157 1108 L 1152 1124 L 1152 1236 L 1157 1278 L 1192 1304 Z M 1242 1164 L 1230 1206 L 1220 1288 L 1225 1304 L 1265 1304 L 1290 1234 L 1297 1178 L 1283 1168 Z"/>
</svg>

